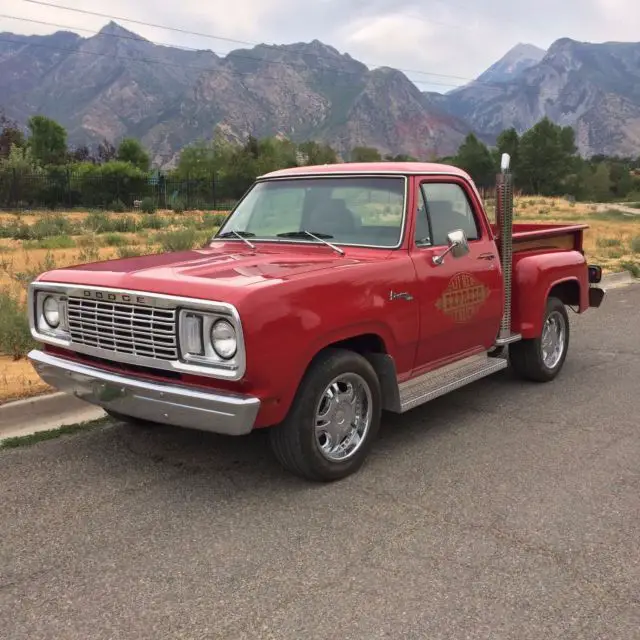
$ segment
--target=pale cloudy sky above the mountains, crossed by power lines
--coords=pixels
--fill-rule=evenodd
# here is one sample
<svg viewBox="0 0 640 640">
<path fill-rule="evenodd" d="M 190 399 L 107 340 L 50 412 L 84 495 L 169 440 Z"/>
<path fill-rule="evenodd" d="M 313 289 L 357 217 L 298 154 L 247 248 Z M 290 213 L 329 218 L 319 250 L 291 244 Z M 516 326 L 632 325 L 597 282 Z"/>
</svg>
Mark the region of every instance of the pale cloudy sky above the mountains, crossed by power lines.
<svg viewBox="0 0 640 640">
<path fill-rule="evenodd" d="M 88 37 L 109 18 L 161 44 L 219 54 L 244 43 L 318 39 L 371 68 L 404 70 L 423 91 L 477 77 L 518 43 L 640 40 L 638 0 L 3 0 L 0 32 Z M 16 18 L 20 18 L 16 19 Z M 128 22 L 170 26 L 183 32 Z M 42 24 L 50 23 L 50 24 Z M 57 26 L 51 26 L 55 24 Z M 197 32 L 201 35 L 184 32 Z"/>
</svg>

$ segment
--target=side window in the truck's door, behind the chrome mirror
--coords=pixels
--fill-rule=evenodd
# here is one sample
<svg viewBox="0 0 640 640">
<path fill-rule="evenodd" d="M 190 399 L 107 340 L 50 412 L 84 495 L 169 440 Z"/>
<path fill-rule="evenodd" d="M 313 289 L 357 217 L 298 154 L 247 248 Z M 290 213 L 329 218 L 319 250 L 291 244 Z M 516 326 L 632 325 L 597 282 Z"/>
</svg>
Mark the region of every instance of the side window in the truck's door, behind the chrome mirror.
<svg viewBox="0 0 640 640">
<path fill-rule="evenodd" d="M 480 229 L 469 200 L 457 184 L 427 182 L 422 185 L 431 222 L 433 245 L 446 245 L 447 234 L 462 229 L 468 240 L 478 240 Z"/>
</svg>

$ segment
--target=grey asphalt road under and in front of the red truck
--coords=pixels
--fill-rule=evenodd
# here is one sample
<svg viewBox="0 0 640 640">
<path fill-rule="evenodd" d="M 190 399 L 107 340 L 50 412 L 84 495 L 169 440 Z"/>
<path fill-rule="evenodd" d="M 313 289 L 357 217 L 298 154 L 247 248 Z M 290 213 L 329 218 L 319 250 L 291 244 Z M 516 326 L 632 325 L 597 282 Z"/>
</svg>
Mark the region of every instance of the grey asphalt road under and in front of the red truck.
<svg viewBox="0 0 640 640">
<path fill-rule="evenodd" d="M 386 420 L 362 471 L 123 425 L 0 452 L 0 637 L 640 638 L 640 286 Z"/>
</svg>

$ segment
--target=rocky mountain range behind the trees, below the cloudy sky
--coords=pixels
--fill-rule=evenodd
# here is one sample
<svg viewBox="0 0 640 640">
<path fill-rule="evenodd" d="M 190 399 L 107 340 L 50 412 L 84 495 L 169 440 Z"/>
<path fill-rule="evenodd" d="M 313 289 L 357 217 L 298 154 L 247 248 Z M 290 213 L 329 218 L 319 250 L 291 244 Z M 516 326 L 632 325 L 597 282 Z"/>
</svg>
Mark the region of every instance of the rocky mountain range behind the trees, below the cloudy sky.
<svg viewBox="0 0 640 640">
<path fill-rule="evenodd" d="M 402 72 L 366 65 L 318 40 L 259 45 L 225 57 L 156 45 L 110 22 L 83 38 L 0 33 L 0 108 L 24 124 L 42 113 L 72 144 L 133 136 L 159 166 L 214 128 L 315 139 L 420 159 L 454 154 L 543 116 L 570 125 L 583 155 L 640 154 L 640 43 L 561 39 L 519 44 L 476 80 L 421 92 Z"/>
</svg>

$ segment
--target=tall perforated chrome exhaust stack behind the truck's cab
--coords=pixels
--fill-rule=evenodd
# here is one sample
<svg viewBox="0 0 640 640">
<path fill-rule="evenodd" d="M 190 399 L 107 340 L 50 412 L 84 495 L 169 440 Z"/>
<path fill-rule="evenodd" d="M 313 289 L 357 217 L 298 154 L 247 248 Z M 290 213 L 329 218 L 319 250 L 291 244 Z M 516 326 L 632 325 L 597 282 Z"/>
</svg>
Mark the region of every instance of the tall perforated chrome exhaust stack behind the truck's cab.
<svg viewBox="0 0 640 640">
<path fill-rule="evenodd" d="M 500 333 L 496 346 L 517 342 L 522 338 L 511 333 L 511 295 L 513 271 L 513 175 L 510 171 L 511 157 L 503 153 L 500 161 L 500 173 L 496 180 L 496 223 L 498 244 L 504 287 L 504 310 L 500 322 Z"/>
</svg>

